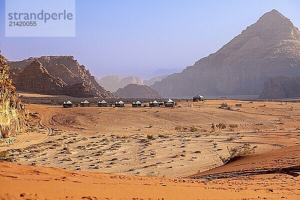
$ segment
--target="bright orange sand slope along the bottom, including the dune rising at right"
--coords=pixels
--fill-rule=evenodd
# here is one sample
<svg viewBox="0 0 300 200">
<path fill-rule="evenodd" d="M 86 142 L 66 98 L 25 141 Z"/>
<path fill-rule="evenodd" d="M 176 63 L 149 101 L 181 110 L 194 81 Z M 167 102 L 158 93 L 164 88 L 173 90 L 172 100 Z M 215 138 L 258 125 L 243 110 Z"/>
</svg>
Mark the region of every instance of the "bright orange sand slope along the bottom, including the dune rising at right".
<svg viewBox="0 0 300 200">
<path fill-rule="evenodd" d="M 0 199 L 300 199 L 300 176 L 294 172 L 299 171 L 299 146 L 251 155 L 193 176 L 227 175 L 214 180 L 114 175 L 0 162 Z M 295 170 L 286 174 L 242 173 L 244 169 L 255 172 L 282 166 Z"/>
</svg>

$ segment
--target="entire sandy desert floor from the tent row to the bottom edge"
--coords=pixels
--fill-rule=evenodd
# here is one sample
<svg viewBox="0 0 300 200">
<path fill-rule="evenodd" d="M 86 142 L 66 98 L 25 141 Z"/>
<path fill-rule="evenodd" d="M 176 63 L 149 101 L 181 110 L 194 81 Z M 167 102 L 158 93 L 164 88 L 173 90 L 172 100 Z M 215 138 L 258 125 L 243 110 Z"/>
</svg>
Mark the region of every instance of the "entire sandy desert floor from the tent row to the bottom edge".
<svg viewBox="0 0 300 200">
<path fill-rule="evenodd" d="M 0 162 L 0 199 L 300 199 L 300 103 L 178 105 L 28 105 L 30 128 L 0 147 L 14 161 Z M 254 154 L 223 165 L 245 144 Z"/>
</svg>

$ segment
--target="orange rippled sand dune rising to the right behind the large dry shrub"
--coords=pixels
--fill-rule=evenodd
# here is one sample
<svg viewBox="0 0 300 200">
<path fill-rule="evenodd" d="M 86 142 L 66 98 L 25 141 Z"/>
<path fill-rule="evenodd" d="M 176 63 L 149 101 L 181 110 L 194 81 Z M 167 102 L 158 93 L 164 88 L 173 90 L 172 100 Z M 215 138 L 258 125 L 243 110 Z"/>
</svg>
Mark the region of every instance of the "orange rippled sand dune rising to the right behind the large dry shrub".
<svg viewBox="0 0 300 200">
<path fill-rule="evenodd" d="M 248 155 L 239 160 L 188 177 L 215 179 L 279 173 L 298 177 L 299 172 L 300 145 L 297 144 L 260 154 Z"/>
</svg>

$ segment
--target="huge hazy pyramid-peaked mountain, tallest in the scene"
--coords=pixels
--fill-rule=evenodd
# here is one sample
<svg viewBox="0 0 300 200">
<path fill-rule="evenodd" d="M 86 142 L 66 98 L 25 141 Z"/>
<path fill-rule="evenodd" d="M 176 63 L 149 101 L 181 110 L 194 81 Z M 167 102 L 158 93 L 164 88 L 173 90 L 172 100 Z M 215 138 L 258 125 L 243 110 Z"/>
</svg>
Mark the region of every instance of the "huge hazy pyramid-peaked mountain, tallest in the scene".
<svg viewBox="0 0 300 200">
<path fill-rule="evenodd" d="M 271 10 L 215 53 L 152 87 L 163 96 L 259 94 L 263 82 L 278 75 L 300 75 L 300 31 Z"/>
</svg>

